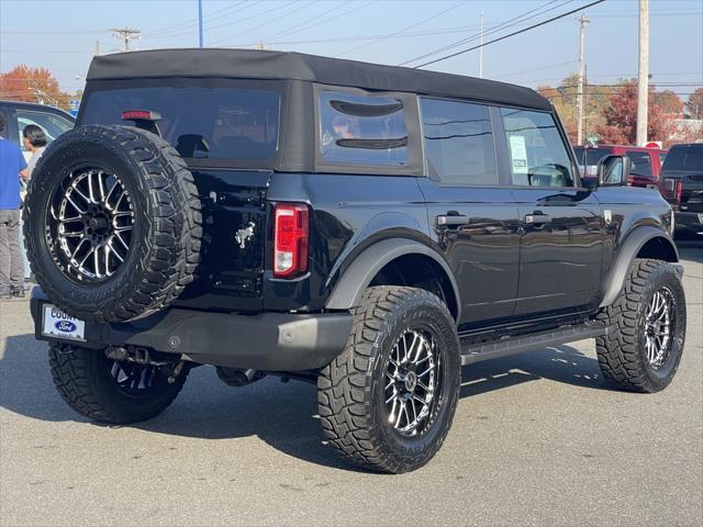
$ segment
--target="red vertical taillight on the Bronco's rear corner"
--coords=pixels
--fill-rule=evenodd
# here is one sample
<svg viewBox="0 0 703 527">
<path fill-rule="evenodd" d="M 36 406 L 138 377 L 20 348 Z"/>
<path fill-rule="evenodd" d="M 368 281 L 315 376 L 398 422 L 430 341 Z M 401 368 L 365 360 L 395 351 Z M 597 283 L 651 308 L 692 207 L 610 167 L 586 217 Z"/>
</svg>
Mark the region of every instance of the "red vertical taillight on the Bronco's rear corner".
<svg viewBox="0 0 703 527">
<path fill-rule="evenodd" d="M 308 271 L 310 213 L 308 205 L 274 208 L 274 276 L 293 278 Z"/>
</svg>

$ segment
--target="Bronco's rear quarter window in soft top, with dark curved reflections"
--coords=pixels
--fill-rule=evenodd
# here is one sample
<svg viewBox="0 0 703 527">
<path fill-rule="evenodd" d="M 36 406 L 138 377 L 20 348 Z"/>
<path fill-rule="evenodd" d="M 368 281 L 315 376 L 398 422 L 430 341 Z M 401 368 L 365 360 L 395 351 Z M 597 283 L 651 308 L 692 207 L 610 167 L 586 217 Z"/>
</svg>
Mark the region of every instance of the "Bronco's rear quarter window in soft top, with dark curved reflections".
<svg viewBox="0 0 703 527">
<path fill-rule="evenodd" d="M 320 150 L 327 161 L 408 165 L 408 128 L 400 99 L 323 91 Z"/>
</svg>

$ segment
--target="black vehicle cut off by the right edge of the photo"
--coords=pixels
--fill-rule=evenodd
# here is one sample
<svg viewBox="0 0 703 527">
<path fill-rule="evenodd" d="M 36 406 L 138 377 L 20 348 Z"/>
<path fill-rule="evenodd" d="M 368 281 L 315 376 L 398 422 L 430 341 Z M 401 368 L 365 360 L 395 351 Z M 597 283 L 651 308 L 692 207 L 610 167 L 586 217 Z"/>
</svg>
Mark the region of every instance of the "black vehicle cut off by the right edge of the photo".
<svg viewBox="0 0 703 527">
<path fill-rule="evenodd" d="M 659 190 L 676 213 L 677 234 L 703 234 L 703 143 L 671 147 Z"/>
</svg>

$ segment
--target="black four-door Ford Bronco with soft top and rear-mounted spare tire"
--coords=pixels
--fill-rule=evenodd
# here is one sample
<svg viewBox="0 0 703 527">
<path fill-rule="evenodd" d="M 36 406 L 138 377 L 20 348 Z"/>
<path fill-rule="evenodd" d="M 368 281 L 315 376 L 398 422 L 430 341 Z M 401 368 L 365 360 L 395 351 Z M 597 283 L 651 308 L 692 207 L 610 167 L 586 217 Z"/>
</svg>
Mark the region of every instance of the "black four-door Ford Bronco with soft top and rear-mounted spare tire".
<svg viewBox="0 0 703 527">
<path fill-rule="evenodd" d="M 672 212 L 579 179 L 551 104 L 489 80 L 259 51 L 97 57 L 25 208 L 36 337 L 77 412 L 154 417 L 191 368 L 317 384 L 328 442 L 426 463 L 461 366 L 596 339 L 656 392 L 683 349 Z"/>
</svg>

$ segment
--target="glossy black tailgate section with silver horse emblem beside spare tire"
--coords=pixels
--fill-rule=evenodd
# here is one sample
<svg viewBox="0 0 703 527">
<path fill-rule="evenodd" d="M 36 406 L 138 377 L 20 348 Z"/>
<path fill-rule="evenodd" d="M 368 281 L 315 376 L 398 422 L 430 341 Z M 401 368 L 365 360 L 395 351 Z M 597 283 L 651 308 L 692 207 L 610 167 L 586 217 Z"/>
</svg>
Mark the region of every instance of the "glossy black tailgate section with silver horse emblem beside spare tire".
<svg viewBox="0 0 703 527">
<path fill-rule="evenodd" d="M 260 310 L 271 172 L 191 170 L 202 202 L 203 243 L 197 278 L 176 304 Z"/>
</svg>

